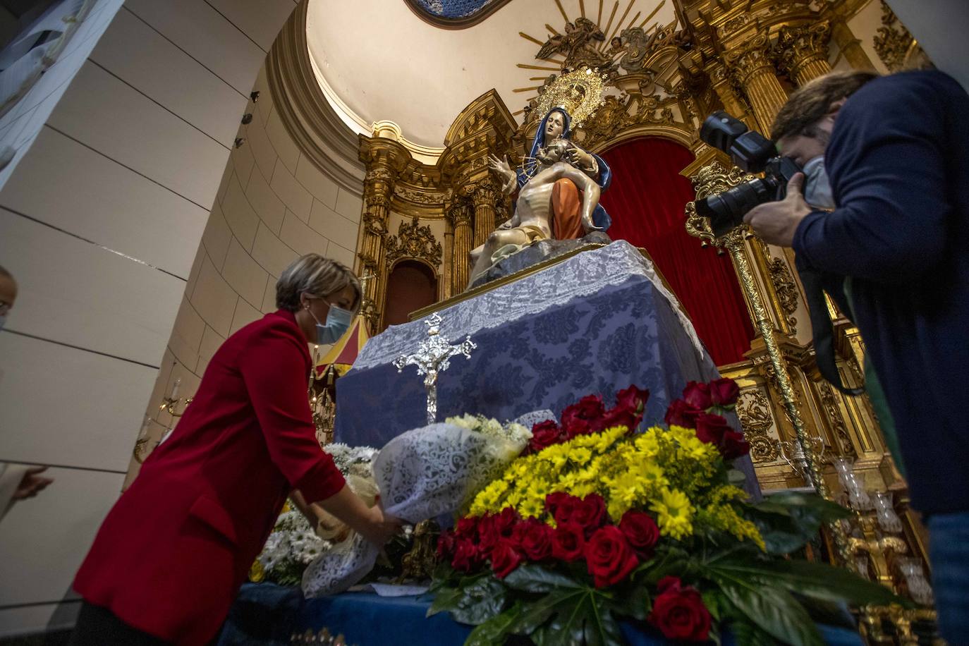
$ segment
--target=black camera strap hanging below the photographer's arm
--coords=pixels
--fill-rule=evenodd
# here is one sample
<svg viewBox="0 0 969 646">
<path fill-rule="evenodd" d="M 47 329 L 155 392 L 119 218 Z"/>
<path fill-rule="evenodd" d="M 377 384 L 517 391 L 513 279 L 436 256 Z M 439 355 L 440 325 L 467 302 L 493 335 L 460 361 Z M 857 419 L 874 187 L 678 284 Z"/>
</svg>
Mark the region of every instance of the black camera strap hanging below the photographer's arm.
<svg viewBox="0 0 969 646">
<path fill-rule="evenodd" d="M 828 303 L 825 302 L 825 292 L 842 312 L 851 312 L 848 299 L 842 288 L 842 277 L 825 274 L 814 269 L 797 267 L 797 274 L 804 286 L 804 298 L 807 301 L 807 312 L 811 319 L 811 329 L 814 332 L 814 354 L 818 362 L 821 376 L 828 384 L 833 385 L 846 395 L 860 395 L 864 387 L 849 388 L 841 382 L 837 361 L 834 354 L 834 326 L 828 316 Z"/>
</svg>

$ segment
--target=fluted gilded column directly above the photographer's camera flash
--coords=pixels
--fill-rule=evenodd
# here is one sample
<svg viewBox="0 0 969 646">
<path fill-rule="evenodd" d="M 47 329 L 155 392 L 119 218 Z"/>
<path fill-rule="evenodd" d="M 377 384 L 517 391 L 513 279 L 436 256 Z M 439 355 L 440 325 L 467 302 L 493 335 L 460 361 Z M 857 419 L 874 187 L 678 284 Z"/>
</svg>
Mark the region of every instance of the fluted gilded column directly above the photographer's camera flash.
<svg viewBox="0 0 969 646">
<path fill-rule="evenodd" d="M 727 63 L 740 86 L 747 94 L 747 101 L 754 110 L 760 130 L 770 135 L 777 110 L 787 101 L 787 92 L 777 79 L 770 57 L 770 44 L 766 34 L 727 52 Z"/>
</svg>

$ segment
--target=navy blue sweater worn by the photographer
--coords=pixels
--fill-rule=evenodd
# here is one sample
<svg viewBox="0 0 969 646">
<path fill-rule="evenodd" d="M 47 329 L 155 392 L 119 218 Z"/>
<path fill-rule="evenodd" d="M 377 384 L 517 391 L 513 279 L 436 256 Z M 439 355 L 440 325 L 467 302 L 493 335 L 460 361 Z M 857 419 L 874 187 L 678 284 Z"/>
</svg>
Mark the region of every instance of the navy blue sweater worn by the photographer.
<svg viewBox="0 0 969 646">
<path fill-rule="evenodd" d="M 838 208 L 798 263 L 851 276 L 855 323 L 925 513 L 969 510 L 969 95 L 941 72 L 870 81 L 825 154 Z"/>
</svg>

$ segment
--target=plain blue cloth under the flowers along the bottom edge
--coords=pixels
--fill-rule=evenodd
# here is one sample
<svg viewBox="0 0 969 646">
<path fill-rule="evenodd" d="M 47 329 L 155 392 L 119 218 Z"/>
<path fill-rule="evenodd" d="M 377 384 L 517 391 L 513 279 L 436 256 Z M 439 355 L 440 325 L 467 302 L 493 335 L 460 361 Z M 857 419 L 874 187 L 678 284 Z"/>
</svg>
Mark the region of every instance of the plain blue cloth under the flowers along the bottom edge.
<svg viewBox="0 0 969 646">
<path fill-rule="evenodd" d="M 343 634 L 351 646 L 463 644 L 472 627 L 458 624 L 448 613 L 426 617 L 431 597 L 378 597 L 348 592 L 332 597 L 303 600 L 298 588 L 271 583 L 242 586 L 218 646 L 283 646 L 291 634 L 323 629 Z M 630 646 L 660 646 L 672 642 L 645 624 L 623 622 L 623 637 Z M 819 626 L 829 646 L 860 646 L 857 631 Z M 521 642 L 530 643 L 527 640 Z M 725 646 L 735 646 L 734 636 L 723 635 Z"/>
</svg>

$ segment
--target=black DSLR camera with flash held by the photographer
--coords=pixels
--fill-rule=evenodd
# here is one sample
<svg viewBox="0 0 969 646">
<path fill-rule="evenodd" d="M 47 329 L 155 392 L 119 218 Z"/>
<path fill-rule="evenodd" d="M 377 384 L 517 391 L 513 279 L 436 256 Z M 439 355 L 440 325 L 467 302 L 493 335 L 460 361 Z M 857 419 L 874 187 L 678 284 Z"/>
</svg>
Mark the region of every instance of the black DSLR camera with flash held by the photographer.
<svg viewBox="0 0 969 646">
<path fill-rule="evenodd" d="M 714 112 L 703 121 L 700 138 L 731 156 L 747 172 L 763 172 L 763 178 L 737 184 L 729 191 L 697 200 L 697 213 L 710 219 L 710 229 L 723 235 L 743 223 L 747 211 L 766 201 L 783 200 L 787 183 L 800 168 L 794 161 L 777 154 L 773 141 L 724 111 Z"/>
</svg>

